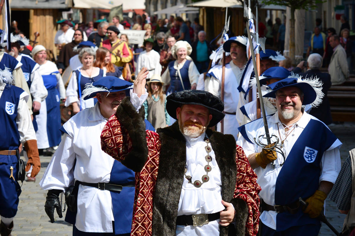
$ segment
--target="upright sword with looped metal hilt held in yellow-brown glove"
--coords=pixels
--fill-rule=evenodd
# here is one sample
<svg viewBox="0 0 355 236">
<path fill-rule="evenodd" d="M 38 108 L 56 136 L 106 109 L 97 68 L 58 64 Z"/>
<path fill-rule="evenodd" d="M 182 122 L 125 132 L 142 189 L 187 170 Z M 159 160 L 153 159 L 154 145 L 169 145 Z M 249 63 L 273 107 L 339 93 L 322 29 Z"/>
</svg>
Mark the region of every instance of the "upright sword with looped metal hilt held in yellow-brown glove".
<svg viewBox="0 0 355 236">
<path fill-rule="evenodd" d="M 250 21 L 250 20 L 249 20 Z M 251 35 L 250 35 L 250 29 L 249 29 L 249 21 L 246 23 L 246 28 L 247 28 L 247 33 L 248 33 L 248 39 L 249 39 L 249 44 L 250 45 L 253 45 L 253 42 L 251 40 Z M 256 60 L 255 60 L 255 53 L 254 53 L 254 50 L 250 50 L 251 52 L 251 59 L 252 59 L 252 62 L 253 62 L 253 66 L 254 66 L 254 73 L 255 73 L 255 79 L 256 79 L 256 85 L 257 85 L 257 89 L 258 91 L 260 91 L 259 93 L 259 100 L 260 100 L 260 108 L 261 108 L 261 112 L 263 114 L 263 121 L 264 121 L 264 128 L 265 128 L 265 135 L 261 135 L 257 138 L 254 138 L 254 141 L 256 142 L 257 145 L 261 146 L 262 148 L 264 149 L 274 149 L 275 148 L 275 151 L 279 152 L 284 160 L 286 159 L 285 158 L 285 155 L 284 153 L 282 152 L 282 150 L 280 148 L 278 148 L 276 145 L 279 143 L 279 138 L 275 135 L 275 134 L 272 134 L 272 136 L 270 136 L 270 133 L 269 133 L 269 126 L 267 124 L 267 120 L 266 120 L 266 113 L 265 113 L 265 108 L 264 108 L 264 103 L 263 103 L 263 96 L 261 94 L 261 87 L 260 87 L 260 81 L 259 81 L 259 76 L 258 76 L 258 70 L 257 70 L 257 65 L 256 65 Z M 270 148 L 266 148 L 266 145 L 268 144 L 271 144 L 271 138 L 272 137 L 275 137 L 276 138 L 276 142 L 275 144 L 270 147 Z M 263 144 L 261 142 L 261 139 L 266 139 L 267 140 L 267 144 Z M 280 164 L 280 166 L 282 166 L 282 164 Z M 271 166 L 273 169 L 275 169 L 275 162 L 273 161 L 271 163 Z"/>
</svg>

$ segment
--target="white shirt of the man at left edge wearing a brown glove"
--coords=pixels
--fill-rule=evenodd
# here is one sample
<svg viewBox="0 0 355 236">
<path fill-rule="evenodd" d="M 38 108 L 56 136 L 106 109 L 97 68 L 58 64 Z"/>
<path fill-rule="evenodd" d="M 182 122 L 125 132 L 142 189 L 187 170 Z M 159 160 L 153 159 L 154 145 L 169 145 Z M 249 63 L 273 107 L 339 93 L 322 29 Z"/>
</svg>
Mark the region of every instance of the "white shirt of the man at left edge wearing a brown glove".
<svg viewBox="0 0 355 236">
<path fill-rule="evenodd" d="M 4 91 L 5 85 L 5 83 L 0 85 L 0 97 Z M 29 114 L 29 110 L 26 104 L 28 97 L 28 93 L 23 91 L 20 95 L 20 100 L 17 106 L 16 125 L 18 133 L 20 134 L 20 142 L 22 145 L 28 140 L 37 140 L 31 120 L 31 115 Z"/>
</svg>

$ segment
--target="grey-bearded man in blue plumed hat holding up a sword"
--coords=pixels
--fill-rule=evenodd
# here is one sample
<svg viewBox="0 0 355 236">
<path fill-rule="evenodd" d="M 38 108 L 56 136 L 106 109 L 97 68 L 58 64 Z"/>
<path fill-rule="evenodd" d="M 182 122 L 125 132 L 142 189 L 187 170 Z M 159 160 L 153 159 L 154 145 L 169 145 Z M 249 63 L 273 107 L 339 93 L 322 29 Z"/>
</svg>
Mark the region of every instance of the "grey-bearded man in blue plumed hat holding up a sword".
<svg viewBox="0 0 355 236">
<path fill-rule="evenodd" d="M 268 85 L 263 97 L 276 98 L 277 112 L 267 116 L 271 142 L 279 140 L 276 150 L 269 144 L 261 148 L 254 138 L 267 143 L 263 119 L 239 127 L 241 145 L 258 176 L 262 198 L 261 235 L 317 236 L 317 218 L 324 200 L 340 171 L 342 143 L 302 105 L 321 103 L 322 83 L 317 79 L 291 76 Z M 276 137 L 275 137 L 276 136 Z M 307 203 L 300 204 L 299 197 Z M 303 209 L 302 209 L 303 207 Z"/>
</svg>

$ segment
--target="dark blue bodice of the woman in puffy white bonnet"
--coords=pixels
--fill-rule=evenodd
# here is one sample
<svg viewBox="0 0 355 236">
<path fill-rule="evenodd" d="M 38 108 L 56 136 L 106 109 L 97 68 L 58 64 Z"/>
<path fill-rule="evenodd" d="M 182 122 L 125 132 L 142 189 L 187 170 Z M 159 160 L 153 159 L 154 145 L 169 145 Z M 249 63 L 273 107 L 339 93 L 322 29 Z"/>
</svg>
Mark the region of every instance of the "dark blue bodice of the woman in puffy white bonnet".
<svg viewBox="0 0 355 236">
<path fill-rule="evenodd" d="M 182 83 L 184 84 L 184 88 L 182 88 L 181 80 L 178 74 L 178 71 L 174 68 L 174 62 L 172 61 L 168 65 L 169 74 L 170 74 L 170 86 L 168 88 L 168 92 L 174 93 L 184 90 L 190 90 L 191 84 L 189 79 L 189 65 L 191 61 L 186 60 L 182 68 L 180 69 Z"/>
</svg>

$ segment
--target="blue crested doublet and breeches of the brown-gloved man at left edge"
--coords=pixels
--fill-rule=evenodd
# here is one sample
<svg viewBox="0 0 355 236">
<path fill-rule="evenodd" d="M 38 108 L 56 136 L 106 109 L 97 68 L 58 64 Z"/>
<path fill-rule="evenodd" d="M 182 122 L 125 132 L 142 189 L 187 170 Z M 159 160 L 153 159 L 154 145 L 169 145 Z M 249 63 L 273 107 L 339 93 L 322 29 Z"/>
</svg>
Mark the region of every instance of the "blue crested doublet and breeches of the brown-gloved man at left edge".
<svg viewBox="0 0 355 236">
<path fill-rule="evenodd" d="M 20 146 L 16 116 L 22 88 L 6 85 L 0 98 L 0 150 L 16 150 Z M 13 167 L 13 176 L 10 179 L 10 166 Z M 0 215 L 11 218 L 16 215 L 18 196 L 21 194 L 17 183 L 18 160 L 16 155 L 0 155 Z"/>
</svg>

